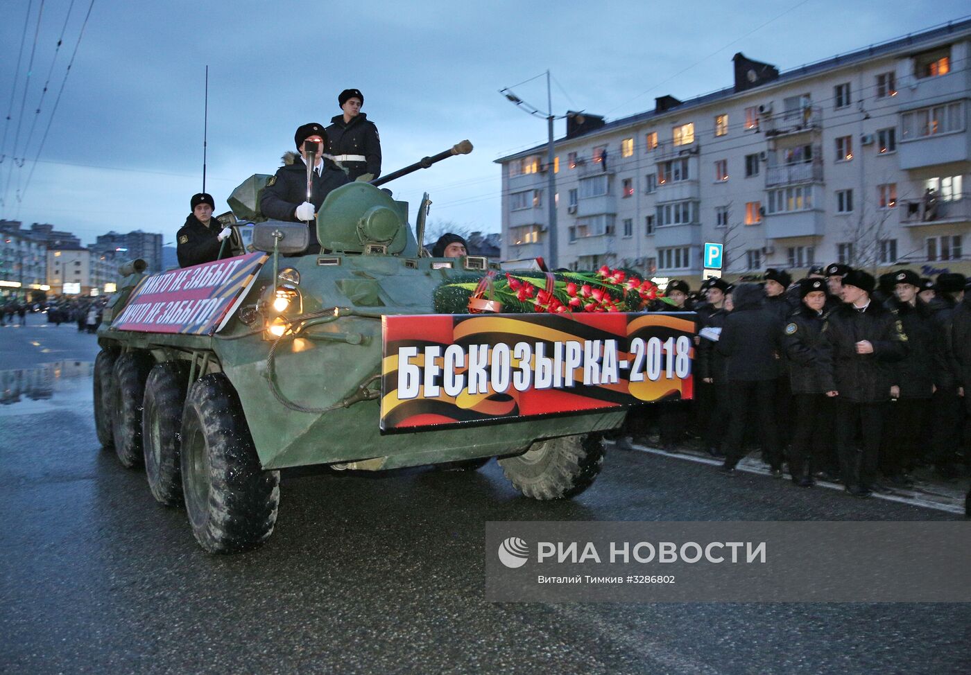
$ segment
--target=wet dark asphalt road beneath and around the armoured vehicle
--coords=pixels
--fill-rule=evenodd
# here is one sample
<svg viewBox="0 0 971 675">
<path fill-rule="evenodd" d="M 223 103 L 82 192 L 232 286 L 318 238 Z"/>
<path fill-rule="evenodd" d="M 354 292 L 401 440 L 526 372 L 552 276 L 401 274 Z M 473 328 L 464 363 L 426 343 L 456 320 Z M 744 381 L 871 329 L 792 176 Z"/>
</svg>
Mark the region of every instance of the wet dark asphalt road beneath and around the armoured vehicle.
<svg viewBox="0 0 971 675">
<path fill-rule="evenodd" d="M 71 327 L 0 328 L 3 369 L 95 349 Z M 99 449 L 90 417 L 84 374 L 0 407 L 0 672 L 968 672 L 971 607 L 958 604 L 482 599 L 490 520 L 952 514 L 612 451 L 590 490 L 552 503 L 519 497 L 494 462 L 285 472 L 269 543 L 211 557 L 183 509 Z"/>
</svg>

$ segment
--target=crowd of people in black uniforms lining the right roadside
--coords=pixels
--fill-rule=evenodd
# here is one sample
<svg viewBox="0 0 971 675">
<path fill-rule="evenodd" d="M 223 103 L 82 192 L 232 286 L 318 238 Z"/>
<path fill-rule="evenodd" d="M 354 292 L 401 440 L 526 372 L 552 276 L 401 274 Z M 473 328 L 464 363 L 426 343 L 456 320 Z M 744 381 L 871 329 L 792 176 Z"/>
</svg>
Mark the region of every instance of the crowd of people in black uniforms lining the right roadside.
<svg viewBox="0 0 971 675">
<path fill-rule="evenodd" d="M 648 406 L 628 431 L 645 441 L 656 421 L 674 450 L 693 430 L 727 475 L 757 442 L 773 475 L 860 498 L 913 487 L 920 466 L 954 478 L 971 450 L 968 291 L 962 274 L 878 280 L 842 264 L 795 282 L 710 278 L 698 294 L 673 280 L 669 309 L 698 315 L 695 400 Z"/>
</svg>

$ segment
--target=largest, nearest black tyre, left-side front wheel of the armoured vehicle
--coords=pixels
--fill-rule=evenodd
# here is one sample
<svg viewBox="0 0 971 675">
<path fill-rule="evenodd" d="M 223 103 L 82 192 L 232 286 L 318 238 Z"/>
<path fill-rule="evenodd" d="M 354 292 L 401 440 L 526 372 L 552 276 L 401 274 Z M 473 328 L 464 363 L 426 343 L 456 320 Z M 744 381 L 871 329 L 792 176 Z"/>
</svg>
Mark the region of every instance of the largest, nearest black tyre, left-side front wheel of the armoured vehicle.
<svg viewBox="0 0 971 675">
<path fill-rule="evenodd" d="M 280 471 L 260 466 L 243 406 L 222 373 L 201 377 L 189 389 L 180 455 L 185 509 L 202 548 L 235 553 L 269 538 Z"/>
</svg>

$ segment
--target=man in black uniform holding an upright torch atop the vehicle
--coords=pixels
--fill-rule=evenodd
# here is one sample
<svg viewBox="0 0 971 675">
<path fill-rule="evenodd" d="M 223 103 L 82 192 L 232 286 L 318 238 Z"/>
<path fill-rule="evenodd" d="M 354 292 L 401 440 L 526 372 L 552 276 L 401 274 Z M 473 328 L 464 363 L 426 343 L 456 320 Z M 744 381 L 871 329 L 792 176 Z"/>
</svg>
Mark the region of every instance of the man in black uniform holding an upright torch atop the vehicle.
<svg viewBox="0 0 971 675">
<path fill-rule="evenodd" d="M 313 189 L 307 201 L 307 163 L 309 156 L 305 142 L 318 143 L 322 149 L 327 145 L 327 134 L 323 126 L 311 122 L 297 127 L 293 142 L 301 154 L 286 152 L 284 166 L 277 170 L 276 176 L 267 181 L 260 195 L 259 209 L 263 215 L 275 220 L 306 222 L 310 228 L 308 253 L 318 253 L 320 244 L 317 239 L 316 213 L 323 200 L 334 188 L 340 187 L 350 179 L 332 161 L 318 155 L 313 173 Z"/>
</svg>

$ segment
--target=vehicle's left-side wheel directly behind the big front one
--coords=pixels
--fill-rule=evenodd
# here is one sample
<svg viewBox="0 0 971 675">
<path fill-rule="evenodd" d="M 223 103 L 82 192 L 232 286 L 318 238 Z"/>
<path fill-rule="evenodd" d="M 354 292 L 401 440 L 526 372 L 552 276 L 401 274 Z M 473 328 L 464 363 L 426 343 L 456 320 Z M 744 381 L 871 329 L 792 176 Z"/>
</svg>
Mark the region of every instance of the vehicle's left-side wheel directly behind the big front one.
<svg viewBox="0 0 971 675">
<path fill-rule="evenodd" d="M 142 411 L 145 473 L 152 497 L 166 506 L 182 501 L 179 441 L 187 387 L 188 371 L 178 361 L 156 365 L 145 384 Z"/>
</svg>

